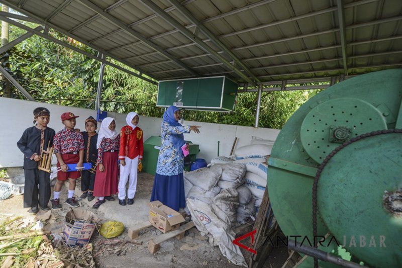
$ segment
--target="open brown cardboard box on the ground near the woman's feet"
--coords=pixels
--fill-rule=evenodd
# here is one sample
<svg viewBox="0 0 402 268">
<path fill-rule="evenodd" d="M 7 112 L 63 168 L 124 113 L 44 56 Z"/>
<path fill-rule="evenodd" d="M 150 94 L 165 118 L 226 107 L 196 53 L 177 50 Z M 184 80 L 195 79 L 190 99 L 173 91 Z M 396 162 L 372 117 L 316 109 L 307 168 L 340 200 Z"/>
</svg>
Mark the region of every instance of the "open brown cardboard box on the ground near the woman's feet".
<svg viewBox="0 0 402 268">
<path fill-rule="evenodd" d="M 148 203 L 149 222 L 162 233 L 177 230 L 184 222 L 183 216 L 174 209 L 165 206 L 160 201 Z"/>
</svg>

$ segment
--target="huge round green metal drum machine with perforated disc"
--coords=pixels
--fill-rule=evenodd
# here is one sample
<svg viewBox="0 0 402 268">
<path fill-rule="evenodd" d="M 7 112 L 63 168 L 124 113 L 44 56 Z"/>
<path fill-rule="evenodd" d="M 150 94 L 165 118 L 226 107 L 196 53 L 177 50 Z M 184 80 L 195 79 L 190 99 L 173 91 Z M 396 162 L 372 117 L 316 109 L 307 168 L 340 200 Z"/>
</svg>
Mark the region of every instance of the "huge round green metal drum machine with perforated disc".
<svg viewBox="0 0 402 268">
<path fill-rule="evenodd" d="M 370 267 L 402 267 L 402 133 L 394 130 L 402 129 L 401 100 L 402 69 L 384 70 L 335 84 L 290 117 L 267 180 L 286 236 L 313 243 L 316 180 L 317 235 L 328 235 L 318 248 Z"/>
</svg>

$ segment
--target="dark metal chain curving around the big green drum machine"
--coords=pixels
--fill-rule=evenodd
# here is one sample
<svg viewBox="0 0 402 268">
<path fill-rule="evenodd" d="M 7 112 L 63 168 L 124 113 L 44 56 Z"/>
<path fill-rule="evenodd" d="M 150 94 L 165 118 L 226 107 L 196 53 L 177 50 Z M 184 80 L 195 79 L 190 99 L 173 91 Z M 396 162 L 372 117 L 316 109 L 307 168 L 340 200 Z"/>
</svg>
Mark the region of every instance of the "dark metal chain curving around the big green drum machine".
<svg viewBox="0 0 402 268">
<path fill-rule="evenodd" d="M 349 144 L 368 138 L 376 135 L 381 135 L 381 134 L 389 134 L 389 133 L 402 133 L 402 129 L 385 129 L 385 130 L 378 130 L 378 131 L 373 131 L 373 132 L 368 132 L 365 134 L 362 134 L 360 136 L 354 137 L 348 141 L 345 141 L 341 145 L 339 145 L 335 150 L 333 150 L 330 154 L 327 155 L 327 157 L 324 159 L 324 161 L 321 163 L 319 166 L 316 177 L 314 178 L 314 183 L 313 183 L 313 239 L 314 239 L 314 247 L 317 248 L 317 188 L 318 188 L 318 181 L 320 180 L 320 175 L 321 172 L 323 171 L 324 167 L 328 163 L 328 161 L 341 149 L 344 147 L 348 146 Z M 318 268 L 318 259 L 314 258 L 314 268 Z"/>
</svg>

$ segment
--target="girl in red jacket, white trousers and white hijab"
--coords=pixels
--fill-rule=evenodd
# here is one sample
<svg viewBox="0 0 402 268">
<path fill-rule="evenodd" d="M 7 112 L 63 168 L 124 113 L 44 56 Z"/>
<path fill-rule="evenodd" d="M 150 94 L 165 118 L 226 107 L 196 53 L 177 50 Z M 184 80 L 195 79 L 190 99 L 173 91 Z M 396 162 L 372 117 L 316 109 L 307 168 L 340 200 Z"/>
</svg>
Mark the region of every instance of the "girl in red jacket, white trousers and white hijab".
<svg viewBox="0 0 402 268">
<path fill-rule="evenodd" d="M 137 127 L 138 121 L 137 113 L 129 113 L 126 117 L 127 125 L 120 131 L 119 159 L 121 166 L 118 197 L 119 204 L 122 206 L 126 206 L 127 181 L 129 181 L 127 204 L 134 204 L 134 195 L 137 189 L 137 169 L 144 152 L 143 135 L 142 130 Z"/>
</svg>

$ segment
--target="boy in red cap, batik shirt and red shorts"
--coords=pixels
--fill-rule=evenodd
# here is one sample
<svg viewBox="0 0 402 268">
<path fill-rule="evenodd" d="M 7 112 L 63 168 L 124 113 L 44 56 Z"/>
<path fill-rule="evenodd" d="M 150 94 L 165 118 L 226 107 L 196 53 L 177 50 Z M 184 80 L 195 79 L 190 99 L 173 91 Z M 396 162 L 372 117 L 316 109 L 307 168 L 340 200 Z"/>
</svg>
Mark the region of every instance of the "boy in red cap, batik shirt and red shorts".
<svg viewBox="0 0 402 268">
<path fill-rule="evenodd" d="M 84 160 L 84 138 L 80 132 L 76 132 L 74 127 L 79 116 L 67 112 L 61 115 L 61 123 L 65 126 L 56 133 L 53 139 L 54 153 L 57 157 L 57 183 L 54 186 L 52 209 L 60 209 L 60 191 L 64 182 L 68 179 L 68 198 L 66 203 L 71 207 L 79 207 L 75 200 L 74 191 L 76 179 L 81 176 L 81 171 L 69 171 L 67 164 L 77 164 L 82 167 Z"/>
</svg>

